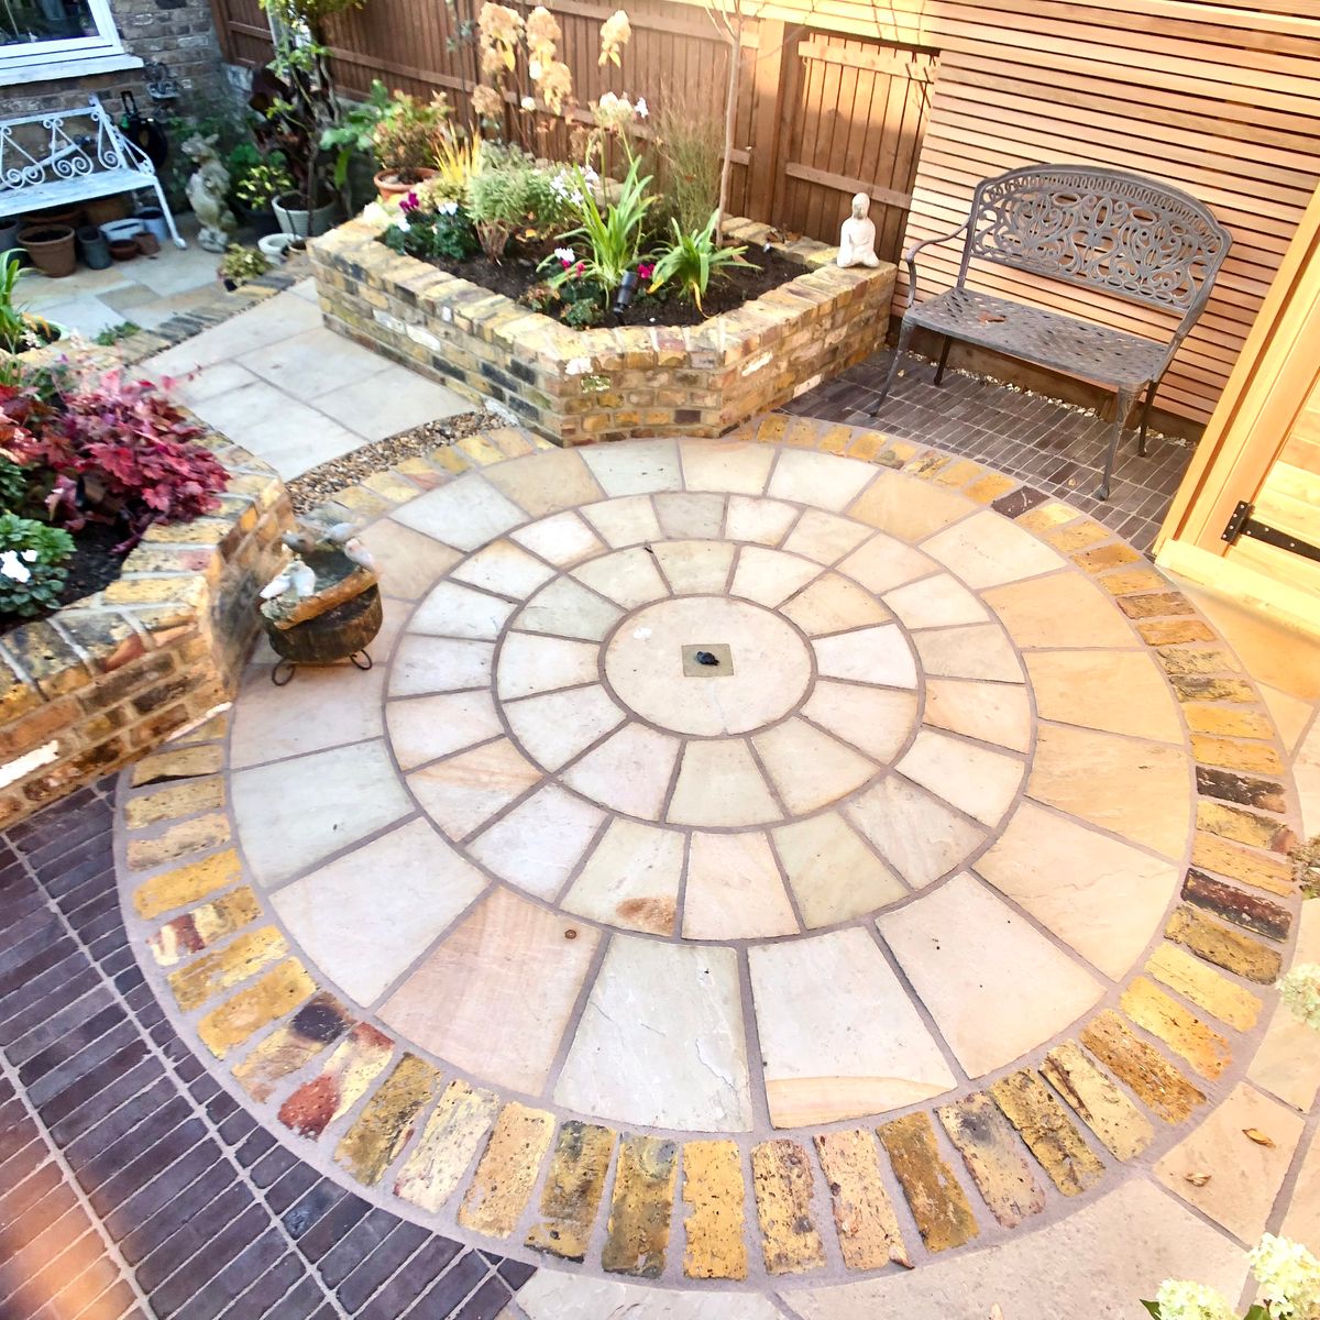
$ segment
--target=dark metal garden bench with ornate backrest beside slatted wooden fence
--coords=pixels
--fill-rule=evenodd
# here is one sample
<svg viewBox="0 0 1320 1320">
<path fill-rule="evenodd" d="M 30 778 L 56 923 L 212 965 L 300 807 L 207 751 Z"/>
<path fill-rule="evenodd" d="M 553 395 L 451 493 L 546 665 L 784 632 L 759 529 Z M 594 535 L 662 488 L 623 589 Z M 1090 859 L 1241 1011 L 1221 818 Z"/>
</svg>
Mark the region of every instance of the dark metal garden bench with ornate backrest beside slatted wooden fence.
<svg viewBox="0 0 1320 1320">
<path fill-rule="evenodd" d="M 917 252 L 964 231 L 968 236 L 957 284 L 916 304 Z M 1140 174 L 1086 165 L 1028 165 L 982 180 L 962 224 L 907 252 L 908 305 L 876 412 L 919 327 L 944 337 L 936 384 L 944 379 L 954 339 L 1092 380 L 1118 396 L 1105 475 L 1096 492 L 1107 499 L 1127 414 L 1144 391 L 1138 441 L 1138 453 L 1144 454 L 1160 378 L 1204 310 L 1232 242 L 1229 231 L 1196 198 Z M 973 260 L 1082 285 L 1180 319 L 1168 341 L 1155 341 L 979 293 L 966 288 Z"/>
</svg>

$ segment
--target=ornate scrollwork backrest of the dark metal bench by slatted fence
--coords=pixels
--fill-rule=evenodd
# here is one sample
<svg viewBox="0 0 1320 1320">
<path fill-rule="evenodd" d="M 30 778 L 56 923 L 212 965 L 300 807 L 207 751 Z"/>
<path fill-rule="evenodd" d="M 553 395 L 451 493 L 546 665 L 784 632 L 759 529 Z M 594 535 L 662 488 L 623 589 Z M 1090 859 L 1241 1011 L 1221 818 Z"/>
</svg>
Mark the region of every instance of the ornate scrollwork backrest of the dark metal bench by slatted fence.
<svg viewBox="0 0 1320 1320">
<path fill-rule="evenodd" d="M 1196 198 L 1140 174 L 1031 165 L 977 185 L 973 260 L 1080 284 L 1195 322 L 1232 243 Z"/>
</svg>

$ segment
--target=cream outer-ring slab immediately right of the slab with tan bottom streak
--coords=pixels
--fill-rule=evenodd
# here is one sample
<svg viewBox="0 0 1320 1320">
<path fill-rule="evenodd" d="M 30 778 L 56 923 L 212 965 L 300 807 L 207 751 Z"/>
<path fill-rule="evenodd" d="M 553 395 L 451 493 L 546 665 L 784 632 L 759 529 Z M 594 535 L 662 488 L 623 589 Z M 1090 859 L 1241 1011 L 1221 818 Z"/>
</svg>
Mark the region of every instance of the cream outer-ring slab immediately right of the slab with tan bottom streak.
<svg viewBox="0 0 1320 1320">
<path fill-rule="evenodd" d="M 972 1077 L 1027 1053 L 1104 994 L 1096 977 L 969 875 L 882 916 L 879 928 Z M 990 1016 L 981 1011 L 987 1001 Z"/>
</svg>

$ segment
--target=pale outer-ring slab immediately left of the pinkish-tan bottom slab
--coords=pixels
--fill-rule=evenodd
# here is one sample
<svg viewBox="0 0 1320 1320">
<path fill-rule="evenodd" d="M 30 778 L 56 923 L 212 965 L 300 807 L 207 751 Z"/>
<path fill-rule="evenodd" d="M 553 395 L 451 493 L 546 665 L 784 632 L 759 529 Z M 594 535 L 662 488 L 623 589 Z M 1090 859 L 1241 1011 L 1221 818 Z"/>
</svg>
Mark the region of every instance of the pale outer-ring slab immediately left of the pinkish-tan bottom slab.
<svg viewBox="0 0 1320 1320">
<path fill-rule="evenodd" d="M 359 1003 L 374 1003 L 486 888 L 486 876 L 413 820 L 272 896 L 290 935 Z"/>
</svg>

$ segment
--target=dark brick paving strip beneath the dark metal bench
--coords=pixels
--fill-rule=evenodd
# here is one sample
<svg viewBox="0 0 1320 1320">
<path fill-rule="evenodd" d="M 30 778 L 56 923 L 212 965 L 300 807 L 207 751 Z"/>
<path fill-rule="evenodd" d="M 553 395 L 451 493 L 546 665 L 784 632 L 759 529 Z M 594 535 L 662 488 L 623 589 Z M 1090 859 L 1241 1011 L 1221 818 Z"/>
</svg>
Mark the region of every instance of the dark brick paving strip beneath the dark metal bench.
<svg viewBox="0 0 1320 1320">
<path fill-rule="evenodd" d="M 962 371 L 946 371 L 937 388 L 932 384 L 935 364 L 916 358 L 909 359 L 911 366 L 874 416 L 890 355 L 886 348 L 867 358 L 783 411 L 875 426 L 987 463 L 1045 495 L 1068 500 L 1139 550 L 1150 549 L 1195 445 L 1151 433 L 1150 451 L 1142 458 L 1135 430 L 1127 430 L 1114 461 L 1110 496 L 1097 500 L 1092 496 L 1100 483 L 1110 421 Z"/>
</svg>

